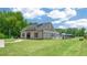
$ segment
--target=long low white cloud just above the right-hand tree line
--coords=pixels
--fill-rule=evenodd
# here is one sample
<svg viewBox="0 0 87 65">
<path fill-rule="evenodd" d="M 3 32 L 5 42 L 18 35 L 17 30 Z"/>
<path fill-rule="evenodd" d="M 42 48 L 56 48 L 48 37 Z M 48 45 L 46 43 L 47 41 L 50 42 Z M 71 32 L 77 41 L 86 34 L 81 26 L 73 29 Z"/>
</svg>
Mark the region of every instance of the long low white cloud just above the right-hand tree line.
<svg viewBox="0 0 87 65">
<path fill-rule="evenodd" d="M 53 24 L 59 23 L 59 21 L 54 21 Z M 74 21 L 65 21 L 63 24 L 57 25 L 56 28 L 59 29 L 67 29 L 67 28 L 86 28 L 87 29 L 87 19 L 79 19 Z"/>
</svg>

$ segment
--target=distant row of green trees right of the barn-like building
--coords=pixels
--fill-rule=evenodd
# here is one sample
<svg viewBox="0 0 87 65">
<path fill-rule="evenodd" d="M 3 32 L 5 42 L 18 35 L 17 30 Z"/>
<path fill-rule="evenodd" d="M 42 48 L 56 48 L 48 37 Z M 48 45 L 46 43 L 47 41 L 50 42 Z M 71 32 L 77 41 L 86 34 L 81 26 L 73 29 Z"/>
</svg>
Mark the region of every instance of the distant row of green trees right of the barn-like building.
<svg viewBox="0 0 87 65">
<path fill-rule="evenodd" d="M 74 36 L 84 36 L 86 34 L 85 28 L 68 28 L 68 29 L 55 29 L 59 33 L 73 34 Z"/>
</svg>

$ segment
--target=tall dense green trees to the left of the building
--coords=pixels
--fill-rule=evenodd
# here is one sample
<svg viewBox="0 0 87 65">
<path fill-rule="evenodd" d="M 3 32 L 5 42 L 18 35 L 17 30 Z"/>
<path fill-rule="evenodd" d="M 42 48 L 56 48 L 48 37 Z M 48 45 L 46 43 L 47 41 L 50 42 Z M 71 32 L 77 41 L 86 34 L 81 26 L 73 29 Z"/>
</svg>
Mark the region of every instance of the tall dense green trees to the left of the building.
<svg viewBox="0 0 87 65">
<path fill-rule="evenodd" d="M 26 25 L 21 12 L 0 12 L 0 39 L 20 36 L 20 31 Z"/>
</svg>

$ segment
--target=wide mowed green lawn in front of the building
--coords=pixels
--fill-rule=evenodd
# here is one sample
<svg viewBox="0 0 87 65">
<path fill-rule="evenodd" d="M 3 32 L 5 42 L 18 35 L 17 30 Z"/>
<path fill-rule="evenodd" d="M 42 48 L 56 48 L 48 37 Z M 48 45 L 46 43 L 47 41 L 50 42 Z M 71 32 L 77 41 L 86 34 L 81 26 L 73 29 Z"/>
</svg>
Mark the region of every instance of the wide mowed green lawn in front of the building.
<svg viewBox="0 0 87 65">
<path fill-rule="evenodd" d="M 6 47 L 0 48 L 0 56 L 87 56 L 87 40 L 14 41 L 6 40 Z"/>
</svg>

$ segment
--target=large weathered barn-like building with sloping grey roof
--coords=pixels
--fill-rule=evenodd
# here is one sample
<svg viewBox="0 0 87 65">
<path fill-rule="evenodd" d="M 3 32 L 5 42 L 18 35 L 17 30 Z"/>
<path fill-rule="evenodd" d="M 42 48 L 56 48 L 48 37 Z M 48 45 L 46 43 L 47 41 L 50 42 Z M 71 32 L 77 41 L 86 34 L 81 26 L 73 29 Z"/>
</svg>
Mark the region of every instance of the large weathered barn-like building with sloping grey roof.
<svg viewBox="0 0 87 65">
<path fill-rule="evenodd" d="M 58 39 L 59 33 L 56 32 L 52 23 L 32 24 L 21 31 L 22 39 Z"/>
</svg>

